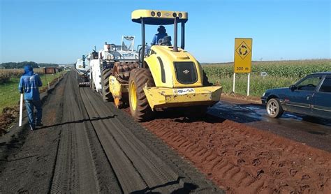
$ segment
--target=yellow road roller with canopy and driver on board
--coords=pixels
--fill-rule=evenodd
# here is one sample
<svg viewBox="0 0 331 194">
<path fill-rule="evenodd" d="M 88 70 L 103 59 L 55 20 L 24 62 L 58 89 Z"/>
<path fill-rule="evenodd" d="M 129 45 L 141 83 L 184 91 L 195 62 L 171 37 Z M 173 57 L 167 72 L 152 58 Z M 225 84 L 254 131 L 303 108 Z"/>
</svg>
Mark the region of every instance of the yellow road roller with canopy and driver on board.
<svg viewBox="0 0 331 194">
<path fill-rule="evenodd" d="M 199 62 L 186 50 L 185 23 L 188 13 L 168 10 L 134 10 L 131 20 L 141 24 L 142 46 L 138 67 L 128 78 L 128 101 L 136 121 L 152 119 L 156 110 L 189 107 L 190 112 L 205 112 L 221 97 L 221 86 L 212 86 Z M 145 43 L 145 25 L 174 25 L 174 40 L 165 36 L 156 45 Z M 177 46 L 177 29 L 181 24 L 181 46 Z M 112 79 L 112 84 L 120 84 Z M 111 83 L 110 83 L 111 84 Z M 117 86 L 124 89 L 124 86 Z"/>
</svg>

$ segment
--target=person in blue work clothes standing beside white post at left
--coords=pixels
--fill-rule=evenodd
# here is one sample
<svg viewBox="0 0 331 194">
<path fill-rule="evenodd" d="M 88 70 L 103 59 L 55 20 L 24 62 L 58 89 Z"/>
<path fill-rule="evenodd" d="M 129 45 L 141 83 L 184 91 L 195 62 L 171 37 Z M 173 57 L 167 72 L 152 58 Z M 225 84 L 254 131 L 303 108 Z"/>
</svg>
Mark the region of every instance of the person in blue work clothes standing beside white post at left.
<svg viewBox="0 0 331 194">
<path fill-rule="evenodd" d="M 24 73 L 20 79 L 18 90 L 20 94 L 24 93 L 24 103 L 27 107 L 29 116 L 30 129 L 34 130 L 36 126 L 43 126 L 41 122 L 43 109 L 41 107 L 41 97 L 39 96 L 39 88 L 43 85 L 41 77 L 34 73 L 31 66 L 24 66 Z M 36 107 L 36 123 L 34 119 L 34 107 Z"/>
</svg>

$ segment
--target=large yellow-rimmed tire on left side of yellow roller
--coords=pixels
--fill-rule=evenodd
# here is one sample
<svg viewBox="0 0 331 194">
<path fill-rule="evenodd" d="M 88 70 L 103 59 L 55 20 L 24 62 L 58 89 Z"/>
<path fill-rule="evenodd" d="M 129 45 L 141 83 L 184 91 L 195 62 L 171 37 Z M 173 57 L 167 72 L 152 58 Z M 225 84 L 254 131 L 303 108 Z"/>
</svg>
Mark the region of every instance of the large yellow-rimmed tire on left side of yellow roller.
<svg viewBox="0 0 331 194">
<path fill-rule="evenodd" d="M 128 101 L 133 119 L 138 122 L 148 121 L 153 117 L 153 111 L 147 101 L 144 87 L 154 87 L 152 73 L 146 68 L 131 70 L 128 80 Z"/>
</svg>

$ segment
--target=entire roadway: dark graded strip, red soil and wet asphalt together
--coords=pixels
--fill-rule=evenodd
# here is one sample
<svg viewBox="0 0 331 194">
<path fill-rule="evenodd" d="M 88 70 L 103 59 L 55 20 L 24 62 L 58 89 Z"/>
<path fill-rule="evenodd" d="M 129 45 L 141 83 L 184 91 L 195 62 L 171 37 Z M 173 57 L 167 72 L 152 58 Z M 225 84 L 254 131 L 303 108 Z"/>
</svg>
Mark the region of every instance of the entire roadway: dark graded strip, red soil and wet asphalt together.
<svg viewBox="0 0 331 194">
<path fill-rule="evenodd" d="M 295 128 L 221 102 L 203 119 L 165 110 L 137 124 L 73 73 L 53 93 L 45 126 L 6 145 L 0 193 L 331 193 L 323 121 Z"/>
</svg>

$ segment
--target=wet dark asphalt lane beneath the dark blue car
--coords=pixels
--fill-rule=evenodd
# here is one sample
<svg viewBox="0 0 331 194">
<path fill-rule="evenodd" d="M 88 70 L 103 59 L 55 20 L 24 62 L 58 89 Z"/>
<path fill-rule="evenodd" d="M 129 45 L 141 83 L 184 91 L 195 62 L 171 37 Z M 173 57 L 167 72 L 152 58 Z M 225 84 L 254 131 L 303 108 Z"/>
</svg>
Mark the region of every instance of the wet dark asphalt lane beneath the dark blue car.
<svg viewBox="0 0 331 194">
<path fill-rule="evenodd" d="M 209 109 L 209 114 L 222 119 L 267 130 L 290 140 L 331 152 L 331 120 L 284 112 L 279 119 L 267 116 L 265 105 L 225 98 Z"/>
</svg>

